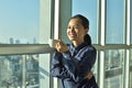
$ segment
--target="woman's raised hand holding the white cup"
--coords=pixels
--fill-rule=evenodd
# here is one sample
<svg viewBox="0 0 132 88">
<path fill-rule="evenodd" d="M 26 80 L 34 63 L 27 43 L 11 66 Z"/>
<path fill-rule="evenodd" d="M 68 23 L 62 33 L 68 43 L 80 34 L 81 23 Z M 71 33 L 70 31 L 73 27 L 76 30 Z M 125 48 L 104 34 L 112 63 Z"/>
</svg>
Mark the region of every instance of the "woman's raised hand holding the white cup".
<svg viewBox="0 0 132 88">
<path fill-rule="evenodd" d="M 68 46 L 61 40 L 58 40 L 58 42 L 55 44 L 55 48 L 59 53 L 64 53 L 64 52 L 68 51 Z"/>
</svg>

